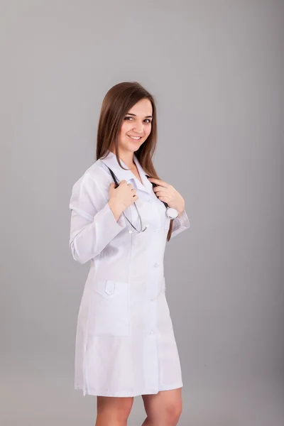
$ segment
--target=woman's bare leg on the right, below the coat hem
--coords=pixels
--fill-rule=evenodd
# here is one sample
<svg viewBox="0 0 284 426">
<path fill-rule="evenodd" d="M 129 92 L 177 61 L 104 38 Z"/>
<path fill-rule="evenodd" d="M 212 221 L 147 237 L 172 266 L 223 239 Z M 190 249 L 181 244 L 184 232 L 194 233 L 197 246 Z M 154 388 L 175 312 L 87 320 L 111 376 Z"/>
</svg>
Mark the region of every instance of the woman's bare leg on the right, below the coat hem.
<svg viewBox="0 0 284 426">
<path fill-rule="evenodd" d="M 142 426 L 175 426 L 182 413 L 182 388 L 142 395 L 147 418 Z"/>
</svg>

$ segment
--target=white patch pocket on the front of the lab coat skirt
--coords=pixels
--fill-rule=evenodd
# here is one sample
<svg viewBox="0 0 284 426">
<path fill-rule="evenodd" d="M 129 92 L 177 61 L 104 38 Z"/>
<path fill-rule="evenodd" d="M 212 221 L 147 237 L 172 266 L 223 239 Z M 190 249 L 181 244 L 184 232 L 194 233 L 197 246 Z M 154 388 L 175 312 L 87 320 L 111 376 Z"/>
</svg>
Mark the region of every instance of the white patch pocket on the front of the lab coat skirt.
<svg viewBox="0 0 284 426">
<path fill-rule="evenodd" d="M 94 336 L 128 336 L 129 323 L 129 283 L 97 280 L 89 315 L 89 332 Z"/>
</svg>

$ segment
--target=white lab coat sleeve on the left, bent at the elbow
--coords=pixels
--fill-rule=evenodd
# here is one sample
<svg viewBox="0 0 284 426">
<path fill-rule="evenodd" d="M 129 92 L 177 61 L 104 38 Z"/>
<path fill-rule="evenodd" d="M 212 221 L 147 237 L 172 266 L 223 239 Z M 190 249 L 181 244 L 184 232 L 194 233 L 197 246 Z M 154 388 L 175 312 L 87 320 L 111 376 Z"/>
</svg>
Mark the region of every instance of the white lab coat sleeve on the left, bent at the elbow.
<svg viewBox="0 0 284 426">
<path fill-rule="evenodd" d="M 69 246 L 79 263 L 86 263 L 101 253 L 126 226 L 122 216 L 116 222 L 104 198 L 99 183 L 92 176 L 83 175 L 72 187 Z"/>
</svg>

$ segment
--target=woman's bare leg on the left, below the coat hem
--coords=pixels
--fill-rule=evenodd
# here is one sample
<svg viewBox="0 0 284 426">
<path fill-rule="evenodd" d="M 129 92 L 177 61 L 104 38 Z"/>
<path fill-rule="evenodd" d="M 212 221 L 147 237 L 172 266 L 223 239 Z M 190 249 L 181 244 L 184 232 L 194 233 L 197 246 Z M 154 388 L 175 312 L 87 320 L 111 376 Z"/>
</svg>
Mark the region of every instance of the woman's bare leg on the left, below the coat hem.
<svg viewBox="0 0 284 426">
<path fill-rule="evenodd" d="M 95 426 L 126 426 L 133 405 L 133 397 L 97 396 Z"/>
</svg>

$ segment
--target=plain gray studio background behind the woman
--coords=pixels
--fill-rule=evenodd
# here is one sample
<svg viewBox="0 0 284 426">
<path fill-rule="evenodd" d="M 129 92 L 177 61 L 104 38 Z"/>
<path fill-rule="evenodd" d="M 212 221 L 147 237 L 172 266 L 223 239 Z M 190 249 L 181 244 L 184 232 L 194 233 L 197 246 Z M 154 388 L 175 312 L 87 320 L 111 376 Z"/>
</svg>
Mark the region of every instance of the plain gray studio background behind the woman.
<svg viewBox="0 0 284 426">
<path fill-rule="evenodd" d="M 89 265 L 68 248 L 107 90 L 157 99 L 161 177 L 189 231 L 165 253 L 179 425 L 280 426 L 283 1 L 1 1 L 1 424 L 94 425 L 73 390 Z M 134 400 L 129 425 L 145 418 Z"/>
</svg>

